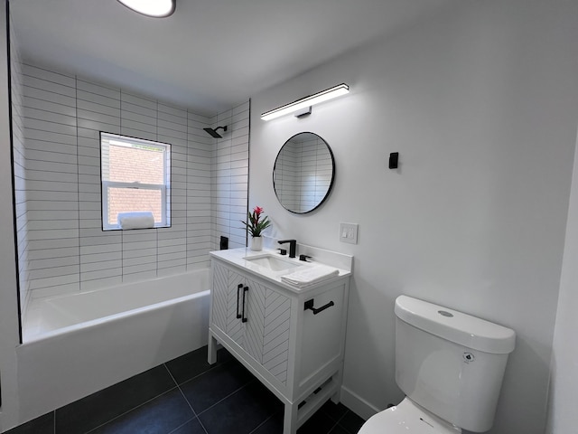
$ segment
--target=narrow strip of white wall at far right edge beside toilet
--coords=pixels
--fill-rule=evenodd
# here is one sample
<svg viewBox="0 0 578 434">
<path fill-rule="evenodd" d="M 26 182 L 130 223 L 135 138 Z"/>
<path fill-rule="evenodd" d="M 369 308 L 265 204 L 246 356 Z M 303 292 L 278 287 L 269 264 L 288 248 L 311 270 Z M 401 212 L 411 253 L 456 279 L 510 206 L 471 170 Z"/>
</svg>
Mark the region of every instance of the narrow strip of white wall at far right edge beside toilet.
<svg viewBox="0 0 578 434">
<path fill-rule="evenodd" d="M 574 156 L 572 193 L 566 228 L 564 261 L 552 349 L 548 434 L 578 427 L 578 153 Z"/>
</svg>

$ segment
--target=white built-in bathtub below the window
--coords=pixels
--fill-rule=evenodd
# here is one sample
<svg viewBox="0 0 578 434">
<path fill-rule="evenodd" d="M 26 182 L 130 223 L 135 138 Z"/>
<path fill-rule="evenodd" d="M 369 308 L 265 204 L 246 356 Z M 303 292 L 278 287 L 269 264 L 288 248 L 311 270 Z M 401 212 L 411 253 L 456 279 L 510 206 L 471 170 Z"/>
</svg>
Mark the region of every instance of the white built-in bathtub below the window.
<svg viewBox="0 0 578 434">
<path fill-rule="evenodd" d="M 16 348 L 30 420 L 207 344 L 209 269 L 33 300 Z"/>
</svg>

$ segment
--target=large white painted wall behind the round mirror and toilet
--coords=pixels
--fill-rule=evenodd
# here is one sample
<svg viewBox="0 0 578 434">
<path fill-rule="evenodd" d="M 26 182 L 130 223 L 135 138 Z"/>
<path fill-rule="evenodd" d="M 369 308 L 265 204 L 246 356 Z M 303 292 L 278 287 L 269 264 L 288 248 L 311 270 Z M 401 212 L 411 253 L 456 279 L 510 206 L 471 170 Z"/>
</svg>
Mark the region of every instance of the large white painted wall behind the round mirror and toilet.
<svg viewBox="0 0 578 434">
<path fill-rule="evenodd" d="M 578 119 L 578 4 L 463 2 L 252 99 L 249 206 L 274 235 L 355 256 L 344 396 L 368 416 L 398 402 L 400 294 L 517 332 L 493 434 L 543 433 Z M 340 82 L 308 118 L 259 114 Z M 334 191 L 298 216 L 275 198 L 284 141 L 331 146 Z M 390 152 L 400 168 L 389 170 Z M 339 223 L 359 223 L 359 244 Z M 575 404 L 575 402 L 574 402 Z M 575 405 L 574 405 L 575 406 Z"/>
</svg>

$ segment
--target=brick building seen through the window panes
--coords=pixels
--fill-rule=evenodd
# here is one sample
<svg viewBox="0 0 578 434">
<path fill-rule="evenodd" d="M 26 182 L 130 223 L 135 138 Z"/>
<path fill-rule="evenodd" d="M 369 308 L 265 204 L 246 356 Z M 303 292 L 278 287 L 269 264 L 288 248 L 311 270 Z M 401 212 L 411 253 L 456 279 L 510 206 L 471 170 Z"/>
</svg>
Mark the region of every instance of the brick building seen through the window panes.
<svg viewBox="0 0 578 434">
<path fill-rule="evenodd" d="M 154 146 L 108 146 L 108 180 L 117 183 L 164 184 L 163 149 Z M 108 223 L 117 224 L 118 212 L 150 211 L 163 222 L 161 190 L 108 188 Z"/>
</svg>

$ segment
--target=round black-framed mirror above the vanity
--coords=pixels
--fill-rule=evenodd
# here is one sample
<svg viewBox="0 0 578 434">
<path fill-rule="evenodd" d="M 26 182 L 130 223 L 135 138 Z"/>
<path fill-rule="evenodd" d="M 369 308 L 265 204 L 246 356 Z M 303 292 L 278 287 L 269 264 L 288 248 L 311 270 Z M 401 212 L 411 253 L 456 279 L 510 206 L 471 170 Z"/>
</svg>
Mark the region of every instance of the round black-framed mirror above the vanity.
<svg viewBox="0 0 578 434">
<path fill-rule="evenodd" d="M 314 133 L 287 140 L 273 167 L 277 199 L 290 212 L 312 212 L 327 199 L 335 177 L 331 147 Z"/>
</svg>

